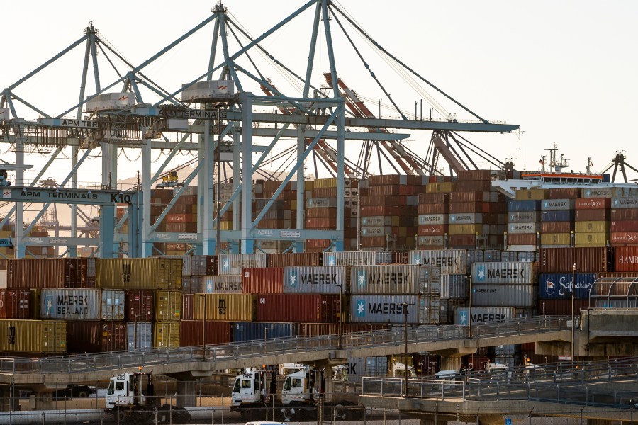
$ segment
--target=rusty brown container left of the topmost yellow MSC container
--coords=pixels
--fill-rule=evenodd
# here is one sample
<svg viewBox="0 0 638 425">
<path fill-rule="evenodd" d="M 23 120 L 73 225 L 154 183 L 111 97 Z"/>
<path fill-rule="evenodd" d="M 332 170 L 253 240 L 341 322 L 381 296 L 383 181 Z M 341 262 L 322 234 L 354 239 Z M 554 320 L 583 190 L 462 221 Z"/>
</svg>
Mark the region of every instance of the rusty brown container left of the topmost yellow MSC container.
<svg viewBox="0 0 638 425">
<path fill-rule="evenodd" d="M 8 288 L 86 288 L 86 259 L 9 259 Z"/>
</svg>

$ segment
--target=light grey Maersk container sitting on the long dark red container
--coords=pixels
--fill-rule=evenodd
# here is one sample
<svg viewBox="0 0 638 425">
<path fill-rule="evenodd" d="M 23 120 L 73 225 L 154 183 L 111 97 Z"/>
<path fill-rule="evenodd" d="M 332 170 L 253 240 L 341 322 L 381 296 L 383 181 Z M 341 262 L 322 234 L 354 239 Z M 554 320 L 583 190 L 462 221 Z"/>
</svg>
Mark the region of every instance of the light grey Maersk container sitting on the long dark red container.
<svg viewBox="0 0 638 425">
<path fill-rule="evenodd" d="M 283 293 L 347 293 L 345 266 L 288 266 L 284 268 Z"/>
</svg>

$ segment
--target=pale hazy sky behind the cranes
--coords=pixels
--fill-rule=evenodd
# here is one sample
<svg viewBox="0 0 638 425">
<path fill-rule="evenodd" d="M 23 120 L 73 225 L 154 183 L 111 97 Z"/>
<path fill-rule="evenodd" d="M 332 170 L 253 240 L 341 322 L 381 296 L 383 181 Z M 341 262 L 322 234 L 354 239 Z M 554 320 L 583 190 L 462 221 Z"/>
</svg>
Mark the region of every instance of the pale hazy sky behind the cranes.
<svg viewBox="0 0 638 425">
<path fill-rule="evenodd" d="M 18 81 L 81 38 L 89 21 L 123 57 L 140 64 L 210 16 L 215 4 L 202 0 L 3 2 L 0 88 Z M 224 3 L 233 19 L 255 37 L 303 4 L 305 1 L 276 0 Z M 638 58 L 634 46 L 638 40 L 634 22 L 638 2 L 341 0 L 338 5 L 386 50 L 477 115 L 519 124 L 520 134 L 464 133 L 499 159 L 513 159 L 518 169 L 537 169 L 539 158 L 547 154 L 545 149 L 555 143 L 574 171 L 584 171 L 588 157 L 592 157 L 594 171 L 602 171 L 620 151 L 629 164 L 638 168 L 634 132 L 625 125 L 631 125 L 638 116 Z M 311 18 L 311 11 L 304 13 L 262 43 L 300 74 L 306 72 Z M 342 18 L 340 21 L 345 22 Z M 349 47 L 336 20 L 332 19 L 330 25 L 337 72 L 376 113 L 376 101 L 381 97 L 378 86 Z M 423 93 L 410 89 L 403 76 L 379 60 L 352 30 L 349 34 L 363 46 L 362 54 L 371 70 L 401 109 L 413 114 L 414 103 L 420 103 Z M 206 72 L 211 38 L 209 25 L 193 40 L 145 69 L 144 74 L 165 89 L 191 81 Z M 16 94 L 50 115 L 66 111 L 79 93 L 84 47 L 76 51 L 18 87 Z M 328 55 L 323 49 L 315 57 L 312 81 L 320 85 L 320 73 L 328 70 Z M 259 55 L 255 54 L 254 60 L 259 61 Z M 114 74 L 109 77 L 106 62 L 101 64 L 101 72 L 106 75 L 101 77 L 103 86 L 113 81 Z M 281 88 L 288 84 L 272 68 L 264 75 Z M 258 87 L 250 89 L 259 92 Z M 432 89 L 428 93 L 441 98 Z M 447 104 L 446 109 L 459 118 L 471 118 L 456 106 Z M 388 111 L 384 115 L 398 114 Z M 22 118 L 37 116 L 25 113 Z M 429 133 L 415 132 L 412 149 L 419 150 L 420 144 L 425 154 L 429 137 Z M 13 154 L 6 152 L 9 146 L 0 149 L 0 157 L 13 162 Z M 32 155 L 26 162 L 42 163 L 45 159 Z M 91 174 L 98 164 L 96 161 L 89 171 L 82 172 Z M 58 165 L 64 166 L 64 162 Z M 122 164 L 121 177 L 131 169 L 135 166 Z M 629 176 L 637 177 L 633 172 Z"/>
</svg>

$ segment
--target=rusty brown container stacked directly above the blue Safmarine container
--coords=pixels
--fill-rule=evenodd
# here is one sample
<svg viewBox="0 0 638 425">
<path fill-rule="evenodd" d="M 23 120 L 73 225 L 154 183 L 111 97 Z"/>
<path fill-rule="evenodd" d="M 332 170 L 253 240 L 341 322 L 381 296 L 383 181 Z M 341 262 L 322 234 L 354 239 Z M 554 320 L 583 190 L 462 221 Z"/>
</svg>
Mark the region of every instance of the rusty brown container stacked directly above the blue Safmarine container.
<svg viewBox="0 0 638 425">
<path fill-rule="evenodd" d="M 613 249 L 604 246 L 578 248 L 541 248 L 540 273 L 568 273 L 576 263 L 578 273 L 613 270 Z"/>
</svg>

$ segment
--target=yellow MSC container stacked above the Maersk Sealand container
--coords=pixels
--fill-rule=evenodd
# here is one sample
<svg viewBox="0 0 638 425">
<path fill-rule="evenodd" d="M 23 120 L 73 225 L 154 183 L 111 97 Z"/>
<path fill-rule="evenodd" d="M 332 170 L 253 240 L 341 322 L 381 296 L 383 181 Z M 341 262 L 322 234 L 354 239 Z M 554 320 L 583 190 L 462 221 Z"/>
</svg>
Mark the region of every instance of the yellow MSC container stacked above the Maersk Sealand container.
<svg viewBox="0 0 638 425">
<path fill-rule="evenodd" d="M 181 259 L 96 259 L 96 288 L 181 290 Z"/>
</svg>

